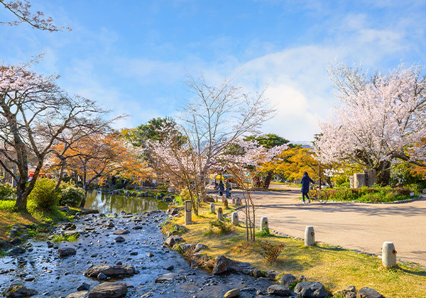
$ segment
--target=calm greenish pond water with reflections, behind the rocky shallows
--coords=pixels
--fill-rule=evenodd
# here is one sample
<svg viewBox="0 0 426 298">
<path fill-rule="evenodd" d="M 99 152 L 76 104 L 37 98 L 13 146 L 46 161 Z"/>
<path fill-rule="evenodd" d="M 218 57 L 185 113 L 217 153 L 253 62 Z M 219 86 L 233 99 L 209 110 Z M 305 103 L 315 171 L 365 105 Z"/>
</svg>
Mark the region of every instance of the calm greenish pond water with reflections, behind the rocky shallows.
<svg viewBox="0 0 426 298">
<path fill-rule="evenodd" d="M 142 213 L 145 211 L 165 210 L 168 203 L 158 202 L 148 197 L 126 197 L 123 194 L 102 194 L 94 190 L 87 193 L 84 208 L 97 209 L 99 212 L 119 213 L 121 211 Z"/>
</svg>

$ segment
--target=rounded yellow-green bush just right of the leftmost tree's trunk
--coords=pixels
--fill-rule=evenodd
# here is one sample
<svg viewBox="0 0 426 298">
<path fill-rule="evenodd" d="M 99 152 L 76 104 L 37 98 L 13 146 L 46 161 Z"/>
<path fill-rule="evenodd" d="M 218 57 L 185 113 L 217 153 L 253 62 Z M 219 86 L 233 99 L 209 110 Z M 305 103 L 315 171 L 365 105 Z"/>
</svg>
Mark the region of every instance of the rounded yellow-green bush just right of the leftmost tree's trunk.
<svg viewBox="0 0 426 298">
<path fill-rule="evenodd" d="M 33 201 L 37 208 L 54 210 L 58 206 L 59 191 L 55 191 L 55 180 L 39 178 L 34 185 L 28 200 Z"/>
</svg>

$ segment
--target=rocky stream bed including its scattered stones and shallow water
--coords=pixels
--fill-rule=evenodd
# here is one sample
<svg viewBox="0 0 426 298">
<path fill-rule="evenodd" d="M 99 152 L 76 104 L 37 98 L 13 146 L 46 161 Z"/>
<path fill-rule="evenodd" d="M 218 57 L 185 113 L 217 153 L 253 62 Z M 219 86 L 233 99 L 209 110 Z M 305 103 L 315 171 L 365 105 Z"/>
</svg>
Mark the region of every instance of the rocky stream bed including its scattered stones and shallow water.
<svg viewBox="0 0 426 298">
<path fill-rule="evenodd" d="M 104 296 L 92 293 L 107 281 L 120 284 L 117 291 L 126 288 L 125 297 L 224 297 L 234 288 L 245 288 L 239 297 L 256 297 L 267 294 L 274 284 L 249 275 L 212 275 L 190 267 L 163 243 L 160 223 L 165 219 L 162 211 L 76 216 L 75 227 L 62 223 L 55 233 L 79 233 L 77 241 L 30 240 L 6 250 L 11 255 L 0 258 L 0 293 L 17 297 L 19 290 L 14 289 L 23 286 L 31 297 L 86 297 L 88 292 L 90 297 L 119 297 L 111 289 Z M 89 268 L 102 267 L 114 274 L 87 273 Z"/>
</svg>

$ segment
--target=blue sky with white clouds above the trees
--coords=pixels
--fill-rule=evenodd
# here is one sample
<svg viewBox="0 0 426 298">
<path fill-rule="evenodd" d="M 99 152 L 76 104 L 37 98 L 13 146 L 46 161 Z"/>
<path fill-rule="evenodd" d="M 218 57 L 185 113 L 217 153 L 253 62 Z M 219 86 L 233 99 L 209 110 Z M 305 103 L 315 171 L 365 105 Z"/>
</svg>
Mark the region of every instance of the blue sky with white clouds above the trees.
<svg viewBox="0 0 426 298">
<path fill-rule="evenodd" d="M 263 126 L 312 140 L 334 99 L 324 72 L 337 58 L 386 72 L 426 65 L 426 1 L 33 0 L 71 32 L 0 27 L 4 64 L 45 53 L 35 70 L 62 77 L 70 94 L 99 102 L 117 127 L 172 116 L 187 98 L 185 73 L 210 82 L 235 76 L 249 92 L 268 86 L 278 109 Z M 9 21 L 0 8 L 0 20 Z"/>
</svg>

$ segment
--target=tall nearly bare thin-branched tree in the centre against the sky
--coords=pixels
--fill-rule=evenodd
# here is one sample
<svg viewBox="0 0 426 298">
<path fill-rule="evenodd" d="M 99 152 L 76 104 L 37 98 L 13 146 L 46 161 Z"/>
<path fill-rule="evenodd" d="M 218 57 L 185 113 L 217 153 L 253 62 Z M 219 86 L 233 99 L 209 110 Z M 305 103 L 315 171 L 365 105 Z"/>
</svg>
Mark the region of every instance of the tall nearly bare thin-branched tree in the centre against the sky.
<svg viewBox="0 0 426 298">
<path fill-rule="evenodd" d="M 188 75 L 186 84 L 193 96 L 182 102 L 179 131 L 195 152 L 192 160 L 196 162 L 200 184 L 197 197 L 204 199 L 207 175 L 217 163 L 217 155 L 242 136 L 258 135 L 262 123 L 275 110 L 268 105 L 265 90 L 246 93 L 232 79 L 210 85 L 202 76 L 195 79 Z"/>
</svg>

